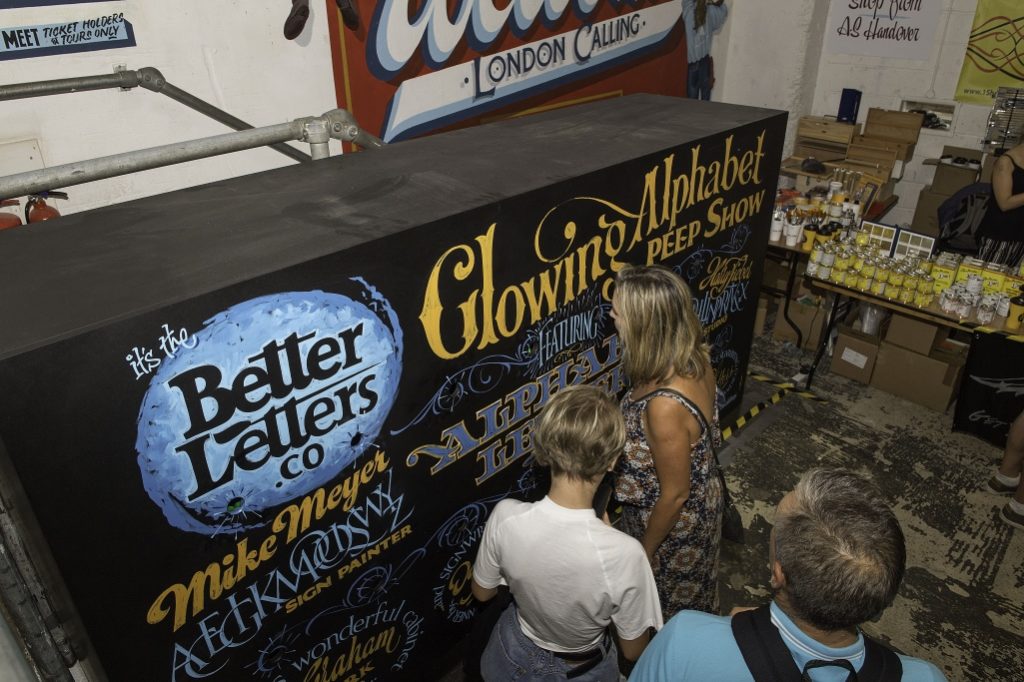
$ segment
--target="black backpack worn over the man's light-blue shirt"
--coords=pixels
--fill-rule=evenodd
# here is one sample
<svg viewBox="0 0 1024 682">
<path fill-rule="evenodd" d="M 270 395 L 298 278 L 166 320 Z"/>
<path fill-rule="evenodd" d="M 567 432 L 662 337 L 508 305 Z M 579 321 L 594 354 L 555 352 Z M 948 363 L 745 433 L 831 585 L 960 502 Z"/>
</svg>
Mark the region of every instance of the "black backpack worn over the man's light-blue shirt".
<svg viewBox="0 0 1024 682">
<path fill-rule="evenodd" d="M 903 677 L 903 665 L 896 652 L 864 635 L 864 665 L 854 672 L 848 660 L 812 660 L 803 671 L 790 653 L 778 629 L 771 623 L 771 609 L 761 606 L 732 616 L 732 636 L 736 638 L 743 662 L 755 682 L 802 682 L 808 672 L 824 666 L 839 666 L 850 672 L 847 682 L 890 682 Z"/>
</svg>

